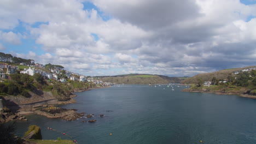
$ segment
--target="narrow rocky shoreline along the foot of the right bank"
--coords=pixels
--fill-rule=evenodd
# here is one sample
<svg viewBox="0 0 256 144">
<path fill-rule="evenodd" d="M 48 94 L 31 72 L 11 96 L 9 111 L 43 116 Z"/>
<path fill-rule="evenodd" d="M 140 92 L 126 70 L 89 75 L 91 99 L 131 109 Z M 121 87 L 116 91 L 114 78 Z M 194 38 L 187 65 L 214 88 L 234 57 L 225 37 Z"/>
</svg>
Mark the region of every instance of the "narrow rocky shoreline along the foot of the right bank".
<svg viewBox="0 0 256 144">
<path fill-rule="evenodd" d="M 238 95 L 240 97 L 256 99 L 256 95 L 249 95 L 245 93 L 223 92 L 223 91 L 209 91 L 207 89 L 183 89 L 182 92 L 195 92 L 195 93 L 215 93 L 221 95 Z"/>
</svg>

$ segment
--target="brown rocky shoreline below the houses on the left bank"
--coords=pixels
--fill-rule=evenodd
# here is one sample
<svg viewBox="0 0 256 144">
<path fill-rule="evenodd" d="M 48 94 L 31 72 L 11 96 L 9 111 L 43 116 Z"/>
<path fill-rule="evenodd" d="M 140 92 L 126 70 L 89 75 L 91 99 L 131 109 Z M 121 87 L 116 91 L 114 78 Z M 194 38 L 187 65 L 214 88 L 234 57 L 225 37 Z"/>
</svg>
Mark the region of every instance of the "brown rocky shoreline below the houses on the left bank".
<svg viewBox="0 0 256 144">
<path fill-rule="evenodd" d="M 107 88 L 107 87 L 75 89 L 74 92 L 84 92 L 84 91 L 90 91 L 91 89 Z M 8 101 L 9 105 L 10 105 L 10 103 L 15 103 L 20 107 L 23 105 L 31 105 L 32 107 L 30 106 L 31 108 L 28 108 L 28 109 L 13 110 L 10 112 L 5 112 L 3 114 L 0 114 L 0 122 L 2 123 L 2 122 L 14 121 L 14 120 L 27 121 L 27 119 L 24 115 L 29 115 L 29 114 L 42 115 L 42 116 L 45 116 L 48 118 L 59 118 L 59 119 L 63 119 L 66 121 L 74 121 L 74 120 L 84 116 L 84 113 L 78 113 L 74 109 L 62 109 L 61 107 L 54 106 L 54 105 L 74 104 L 74 103 L 76 103 L 74 97 L 76 97 L 77 95 L 75 95 L 75 94 L 70 95 L 70 99 L 67 101 L 56 100 L 56 98 L 54 98 L 53 95 L 49 92 L 46 92 L 44 94 L 44 96 L 42 97 L 42 95 L 39 95 L 39 96 L 32 95 L 33 100 L 31 100 L 30 98 L 24 98 L 24 97 L 19 98 L 19 97 L 10 96 L 6 100 L 6 101 Z M 50 105 L 40 104 L 41 102 L 49 103 L 49 101 L 51 101 Z M 100 116 L 102 117 L 102 115 L 100 115 Z M 92 119 L 92 121 L 90 120 L 90 122 L 96 122 L 96 121 L 94 121 L 94 119 Z"/>
</svg>

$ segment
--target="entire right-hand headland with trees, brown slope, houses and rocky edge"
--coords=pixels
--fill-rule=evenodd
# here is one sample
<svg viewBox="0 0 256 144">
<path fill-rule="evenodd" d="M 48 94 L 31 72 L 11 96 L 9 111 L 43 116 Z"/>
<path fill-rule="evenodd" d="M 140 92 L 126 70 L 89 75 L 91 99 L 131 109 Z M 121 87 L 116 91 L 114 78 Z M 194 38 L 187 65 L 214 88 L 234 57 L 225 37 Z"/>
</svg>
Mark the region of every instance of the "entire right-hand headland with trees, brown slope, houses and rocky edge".
<svg viewBox="0 0 256 144">
<path fill-rule="evenodd" d="M 182 92 L 239 95 L 256 99 L 256 66 L 199 74 L 182 83 L 190 84 L 190 88 Z"/>
</svg>

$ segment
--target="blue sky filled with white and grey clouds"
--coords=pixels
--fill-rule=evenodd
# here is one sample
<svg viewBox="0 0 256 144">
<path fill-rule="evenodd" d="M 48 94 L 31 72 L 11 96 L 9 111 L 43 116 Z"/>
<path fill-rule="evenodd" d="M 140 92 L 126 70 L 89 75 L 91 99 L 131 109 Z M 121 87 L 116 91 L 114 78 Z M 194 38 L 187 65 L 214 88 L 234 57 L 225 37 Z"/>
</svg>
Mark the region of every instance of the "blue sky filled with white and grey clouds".
<svg viewBox="0 0 256 144">
<path fill-rule="evenodd" d="M 0 52 L 86 76 L 256 65 L 256 0 L 1 0 Z"/>
</svg>

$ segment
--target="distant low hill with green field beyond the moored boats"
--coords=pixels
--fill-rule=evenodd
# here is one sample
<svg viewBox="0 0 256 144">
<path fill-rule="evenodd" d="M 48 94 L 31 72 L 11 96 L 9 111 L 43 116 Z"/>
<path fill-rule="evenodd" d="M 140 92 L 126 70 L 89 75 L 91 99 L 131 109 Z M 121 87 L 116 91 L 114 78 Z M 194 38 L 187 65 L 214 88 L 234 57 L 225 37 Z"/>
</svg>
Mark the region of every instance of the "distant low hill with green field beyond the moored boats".
<svg viewBox="0 0 256 144">
<path fill-rule="evenodd" d="M 116 76 L 97 76 L 104 82 L 111 83 L 126 83 L 126 84 L 155 84 L 155 83 L 179 83 L 182 79 L 179 77 L 168 77 L 162 75 L 149 75 L 149 74 L 128 74 Z"/>
</svg>

